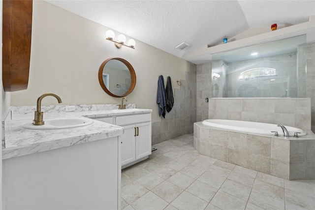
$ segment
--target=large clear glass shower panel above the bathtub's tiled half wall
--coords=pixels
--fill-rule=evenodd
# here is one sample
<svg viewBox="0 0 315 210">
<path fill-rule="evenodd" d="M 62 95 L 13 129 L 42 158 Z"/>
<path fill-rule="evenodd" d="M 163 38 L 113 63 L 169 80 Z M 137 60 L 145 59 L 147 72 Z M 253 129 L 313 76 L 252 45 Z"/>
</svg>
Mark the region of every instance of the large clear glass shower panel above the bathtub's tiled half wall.
<svg viewBox="0 0 315 210">
<path fill-rule="evenodd" d="M 305 46 L 300 35 L 213 54 L 217 97 L 306 97 Z"/>
</svg>

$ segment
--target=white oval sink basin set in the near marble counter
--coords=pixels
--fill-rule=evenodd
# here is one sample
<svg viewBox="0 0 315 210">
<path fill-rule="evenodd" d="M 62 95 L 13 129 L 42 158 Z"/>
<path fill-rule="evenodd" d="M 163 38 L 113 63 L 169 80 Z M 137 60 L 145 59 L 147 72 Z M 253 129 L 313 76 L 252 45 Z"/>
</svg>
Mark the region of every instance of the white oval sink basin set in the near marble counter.
<svg viewBox="0 0 315 210">
<path fill-rule="evenodd" d="M 23 125 L 23 128 L 33 130 L 53 130 L 82 127 L 91 125 L 92 123 L 94 123 L 93 119 L 83 117 L 54 118 L 45 120 L 44 125 L 33 125 L 32 123 L 28 123 Z"/>
</svg>

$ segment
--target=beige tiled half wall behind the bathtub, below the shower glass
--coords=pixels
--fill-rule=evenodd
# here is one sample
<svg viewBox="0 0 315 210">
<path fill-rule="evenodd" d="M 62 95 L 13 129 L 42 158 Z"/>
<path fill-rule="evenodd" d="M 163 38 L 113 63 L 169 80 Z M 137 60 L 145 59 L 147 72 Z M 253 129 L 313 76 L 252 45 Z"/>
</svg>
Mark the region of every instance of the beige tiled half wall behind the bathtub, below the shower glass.
<svg viewBox="0 0 315 210">
<path fill-rule="evenodd" d="M 209 119 L 283 124 L 311 130 L 310 98 L 209 99 Z"/>
</svg>

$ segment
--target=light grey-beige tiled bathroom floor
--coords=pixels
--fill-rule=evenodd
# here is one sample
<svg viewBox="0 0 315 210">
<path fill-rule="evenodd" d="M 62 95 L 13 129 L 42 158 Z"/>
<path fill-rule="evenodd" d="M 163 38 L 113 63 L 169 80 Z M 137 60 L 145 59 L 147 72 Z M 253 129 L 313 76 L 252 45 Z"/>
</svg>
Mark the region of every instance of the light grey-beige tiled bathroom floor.
<svg viewBox="0 0 315 210">
<path fill-rule="evenodd" d="M 315 210 L 315 180 L 288 181 L 200 155 L 193 136 L 122 171 L 123 210 Z"/>
</svg>

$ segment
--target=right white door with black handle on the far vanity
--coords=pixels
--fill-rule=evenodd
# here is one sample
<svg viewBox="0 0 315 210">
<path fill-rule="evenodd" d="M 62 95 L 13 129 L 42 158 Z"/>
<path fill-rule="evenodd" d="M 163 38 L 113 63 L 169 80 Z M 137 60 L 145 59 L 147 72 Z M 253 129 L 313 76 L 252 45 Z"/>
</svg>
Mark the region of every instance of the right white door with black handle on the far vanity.
<svg viewBox="0 0 315 210">
<path fill-rule="evenodd" d="M 136 130 L 136 159 L 139 159 L 151 155 L 151 123 L 136 124 Z"/>
</svg>

